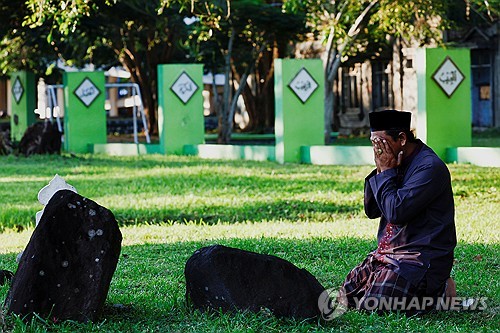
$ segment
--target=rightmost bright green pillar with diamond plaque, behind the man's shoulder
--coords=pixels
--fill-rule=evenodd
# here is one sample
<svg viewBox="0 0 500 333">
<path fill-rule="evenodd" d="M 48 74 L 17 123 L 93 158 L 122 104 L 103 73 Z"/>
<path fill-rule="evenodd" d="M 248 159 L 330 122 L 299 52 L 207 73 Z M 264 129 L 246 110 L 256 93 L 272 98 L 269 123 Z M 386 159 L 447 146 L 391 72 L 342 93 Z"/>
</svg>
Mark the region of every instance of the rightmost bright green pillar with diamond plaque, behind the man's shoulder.
<svg viewBox="0 0 500 333">
<path fill-rule="evenodd" d="M 446 161 L 447 147 L 472 141 L 469 49 L 418 49 L 417 137 Z"/>
</svg>

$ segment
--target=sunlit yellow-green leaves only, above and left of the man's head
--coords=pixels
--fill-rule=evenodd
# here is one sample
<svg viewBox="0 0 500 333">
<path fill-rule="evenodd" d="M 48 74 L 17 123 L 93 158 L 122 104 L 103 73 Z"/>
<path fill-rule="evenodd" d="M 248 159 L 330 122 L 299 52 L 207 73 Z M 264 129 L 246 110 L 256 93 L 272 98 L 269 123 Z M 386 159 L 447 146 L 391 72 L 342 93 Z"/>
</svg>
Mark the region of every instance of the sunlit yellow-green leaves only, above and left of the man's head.
<svg viewBox="0 0 500 333">
<path fill-rule="evenodd" d="M 333 39 L 332 47 L 338 48 L 342 56 L 357 56 L 358 61 L 380 56 L 379 48 L 390 44 L 389 36 L 401 36 L 424 45 L 438 41 L 440 29 L 446 27 L 443 14 L 447 2 L 441 0 L 288 0 L 285 3 L 308 13 L 309 24 L 325 44 Z M 364 16 L 370 4 L 374 6 Z M 353 29 L 358 24 L 359 29 Z"/>
</svg>

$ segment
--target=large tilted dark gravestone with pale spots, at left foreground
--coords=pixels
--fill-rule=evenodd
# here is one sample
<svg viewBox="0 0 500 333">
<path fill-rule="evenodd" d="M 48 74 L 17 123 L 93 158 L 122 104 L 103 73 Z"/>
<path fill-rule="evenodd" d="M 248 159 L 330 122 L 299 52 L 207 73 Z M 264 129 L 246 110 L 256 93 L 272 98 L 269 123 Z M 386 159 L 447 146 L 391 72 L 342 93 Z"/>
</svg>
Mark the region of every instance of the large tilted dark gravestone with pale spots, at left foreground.
<svg viewBox="0 0 500 333">
<path fill-rule="evenodd" d="M 94 321 L 103 309 L 121 240 L 111 211 L 75 192 L 56 192 L 21 257 L 5 301 L 8 312 Z"/>
</svg>

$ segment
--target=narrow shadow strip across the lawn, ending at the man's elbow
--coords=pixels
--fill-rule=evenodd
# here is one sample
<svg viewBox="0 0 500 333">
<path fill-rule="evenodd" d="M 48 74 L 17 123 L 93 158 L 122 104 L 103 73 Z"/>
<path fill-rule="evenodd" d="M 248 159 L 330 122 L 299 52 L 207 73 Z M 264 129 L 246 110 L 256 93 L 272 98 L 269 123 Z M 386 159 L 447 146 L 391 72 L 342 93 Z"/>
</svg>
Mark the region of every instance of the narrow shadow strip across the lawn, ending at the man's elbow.
<svg viewBox="0 0 500 333">
<path fill-rule="evenodd" d="M 197 203 L 189 208 L 110 208 L 120 226 L 157 223 L 215 224 L 220 221 L 236 223 L 241 221 L 289 220 L 327 221 L 346 218 L 362 213 L 363 206 L 357 204 L 336 204 L 333 202 L 307 200 L 253 201 L 237 205 L 206 205 Z M 0 232 L 6 229 L 22 231 L 34 227 L 36 208 L 4 208 L 0 212 Z"/>
</svg>

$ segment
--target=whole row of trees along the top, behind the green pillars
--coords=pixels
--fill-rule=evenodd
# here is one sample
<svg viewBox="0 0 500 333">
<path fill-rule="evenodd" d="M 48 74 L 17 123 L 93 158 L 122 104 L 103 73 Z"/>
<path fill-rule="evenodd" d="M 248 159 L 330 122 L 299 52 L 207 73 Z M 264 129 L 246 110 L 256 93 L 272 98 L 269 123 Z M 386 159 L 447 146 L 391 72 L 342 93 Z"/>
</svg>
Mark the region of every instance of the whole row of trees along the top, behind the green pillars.
<svg viewBox="0 0 500 333">
<path fill-rule="evenodd" d="M 0 19 L 7 24 L 0 26 L 0 71 L 47 75 L 56 61 L 101 69 L 119 63 L 140 85 L 154 131 L 156 66 L 202 62 L 206 71 L 226 77 L 219 141 L 227 142 L 240 95 L 250 128 L 272 127 L 273 60 L 290 56 L 298 40 L 319 39 L 326 49 L 328 137 L 342 64 L 377 56 L 394 37 L 440 43 L 443 29 L 491 23 L 499 8 L 500 0 L 1 1 Z"/>
</svg>

